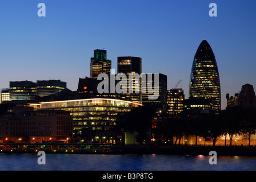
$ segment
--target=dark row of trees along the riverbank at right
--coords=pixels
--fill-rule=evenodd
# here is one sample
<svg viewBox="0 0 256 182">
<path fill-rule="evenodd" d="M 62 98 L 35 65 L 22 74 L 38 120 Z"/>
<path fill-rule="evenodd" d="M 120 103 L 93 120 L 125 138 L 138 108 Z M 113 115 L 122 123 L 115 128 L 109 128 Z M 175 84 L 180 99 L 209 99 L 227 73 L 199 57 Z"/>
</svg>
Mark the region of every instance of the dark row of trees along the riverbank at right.
<svg viewBox="0 0 256 182">
<path fill-rule="evenodd" d="M 155 137 L 173 139 L 173 144 L 180 144 L 183 137 L 195 136 L 211 138 L 215 146 L 218 137 L 225 136 L 225 146 L 227 136 L 230 138 L 229 146 L 232 145 L 233 138 L 237 135 L 247 134 L 250 146 L 251 135 L 256 134 L 256 109 L 241 109 L 234 107 L 222 110 L 218 114 L 190 115 L 181 113 L 178 117 L 171 117 L 162 114 L 162 121 L 157 122 L 152 129 L 152 118 L 155 111 L 151 107 L 134 107 L 128 113 L 121 113 L 117 117 L 116 129 L 121 132 L 133 133 L 137 131 L 137 142 L 141 143 L 146 138 L 146 132 L 151 129 Z"/>
</svg>

